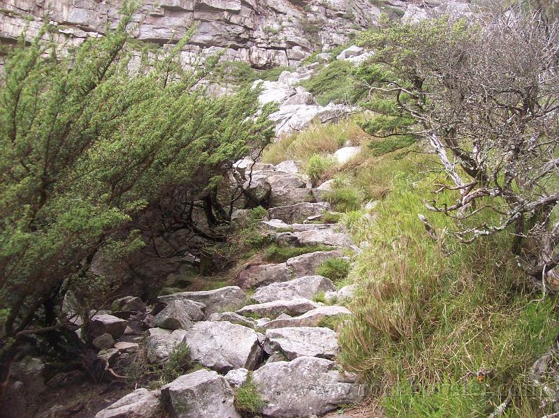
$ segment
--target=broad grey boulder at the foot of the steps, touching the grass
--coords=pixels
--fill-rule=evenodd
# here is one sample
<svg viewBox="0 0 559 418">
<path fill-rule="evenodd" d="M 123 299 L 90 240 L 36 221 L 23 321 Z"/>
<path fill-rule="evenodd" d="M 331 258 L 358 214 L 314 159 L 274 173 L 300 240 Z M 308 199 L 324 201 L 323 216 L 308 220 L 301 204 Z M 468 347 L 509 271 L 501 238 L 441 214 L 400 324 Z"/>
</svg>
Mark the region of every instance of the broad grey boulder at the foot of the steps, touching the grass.
<svg viewBox="0 0 559 418">
<path fill-rule="evenodd" d="M 265 402 L 259 412 L 266 417 L 321 416 L 360 401 L 365 391 L 337 371 L 333 361 L 307 356 L 267 363 L 252 373 L 252 380 Z"/>
</svg>

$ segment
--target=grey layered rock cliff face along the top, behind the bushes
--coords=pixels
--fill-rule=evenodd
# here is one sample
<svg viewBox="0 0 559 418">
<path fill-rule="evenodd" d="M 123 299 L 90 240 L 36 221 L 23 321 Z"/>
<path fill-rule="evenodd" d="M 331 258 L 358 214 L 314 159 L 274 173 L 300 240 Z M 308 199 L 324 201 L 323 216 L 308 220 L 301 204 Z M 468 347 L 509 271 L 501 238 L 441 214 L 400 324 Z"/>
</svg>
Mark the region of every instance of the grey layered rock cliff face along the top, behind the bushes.
<svg viewBox="0 0 559 418">
<path fill-rule="evenodd" d="M 46 12 L 59 28 L 59 43 L 75 45 L 115 24 L 119 0 L 1 0 L 0 41 L 13 42 L 28 19 L 34 36 Z M 228 61 L 256 68 L 299 66 L 314 50 L 347 43 L 377 20 L 369 0 L 142 0 L 138 40 L 166 44 L 198 23 L 187 55 L 225 50 Z"/>
</svg>

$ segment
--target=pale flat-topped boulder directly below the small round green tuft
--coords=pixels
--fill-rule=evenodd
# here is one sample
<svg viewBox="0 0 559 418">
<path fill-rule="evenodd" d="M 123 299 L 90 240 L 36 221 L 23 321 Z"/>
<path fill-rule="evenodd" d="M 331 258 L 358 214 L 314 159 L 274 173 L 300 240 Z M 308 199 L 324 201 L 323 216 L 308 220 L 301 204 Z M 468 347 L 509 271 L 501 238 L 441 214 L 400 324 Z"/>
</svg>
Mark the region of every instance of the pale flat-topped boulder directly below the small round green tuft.
<svg viewBox="0 0 559 418">
<path fill-rule="evenodd" d="M 260 304 L 279 299 L 299 297 L 312 299 L 318 292 L 332 290 L 335 290 L 335 285 L 329 278 L 323 276 L 303 276 L 283 283 L 272 283 L 258 288 L 252 295 L 252 299 Z"/>
</svg>

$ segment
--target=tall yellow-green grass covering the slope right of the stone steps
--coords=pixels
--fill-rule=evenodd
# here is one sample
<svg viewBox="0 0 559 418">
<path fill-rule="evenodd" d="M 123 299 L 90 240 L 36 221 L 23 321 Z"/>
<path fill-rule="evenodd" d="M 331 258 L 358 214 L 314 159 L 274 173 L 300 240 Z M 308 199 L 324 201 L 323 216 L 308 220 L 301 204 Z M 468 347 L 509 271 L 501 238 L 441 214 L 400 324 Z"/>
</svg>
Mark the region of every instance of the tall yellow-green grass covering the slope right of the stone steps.
<svg viewBox="0 0 559 418">
<path fill-rule="evenodd" d="M 355 241 L 370 246 L 348 277 L 359 290 L 339 361 L 374 388 L 387 417 L 486 417 L 509 390 L 514 400 L 503 416 L 551 412 L 539 406 L 528 371 L 559 332 L 556 304 L 528 292 L 509 251 L 512 235 L 459 244 L 449 234 L 451 220 L 423 206 L 437 181 L 420 173 L 428 158 L 387 154 L 377 161 L 376 172 L 350 173 L 354 182 L 367 179 L 389 192 L 374 209 L 375 223 L 359 211 L 342 219 Z M 455 199 L 438 196 L 440 204 Z M 447 231 L 442 241 L 427 237 L 417 214 Z M 491 373 L 479 381 L 484 370 Z"/>
</svg>

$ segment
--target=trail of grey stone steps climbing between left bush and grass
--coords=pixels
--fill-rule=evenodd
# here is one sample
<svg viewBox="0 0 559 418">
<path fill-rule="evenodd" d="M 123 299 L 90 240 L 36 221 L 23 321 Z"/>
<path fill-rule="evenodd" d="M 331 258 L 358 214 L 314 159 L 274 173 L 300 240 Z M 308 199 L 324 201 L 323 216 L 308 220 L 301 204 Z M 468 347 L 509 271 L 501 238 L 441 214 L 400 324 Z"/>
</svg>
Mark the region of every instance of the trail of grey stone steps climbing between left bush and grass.
<svg viewBox="0 0 559 418">
<path fill-rule="evenodd" d="M 152 364 L 168 361 L 181 343 L 203 368 L 159 390 L 136 389 L 96 418 L 159 417 L 162 410 L 172 417 L 237 418 L 243 415 L 235 410 L 235 390 L 247 383 L 261 398 L 256 412 L 263 417 L 321 416 L 363 398 L 365 387 L 335 362 L 337 333 L 328 327 L 351 315 L 342 306 L 351 285 L 337 290 L 316 274 L 325 260 L 357 251 L 342 225 L 321 223 L 331 211 L 320 199 L 324 188 L 310 188 L 293 161 L 273 166 L 245 159 L 236 170 L 250 193 L 271 202 L 259 223 L 261 234 L 282 246 L 331 250 L 252 265 L 240 271 L 235 285 L 168 294 L 158 306 L 117 299 L 90 326 L 108 368 L 138 350 Z M 317 294 L 324 294 L 324 302 L 312 300 Z"/>
</svg>

